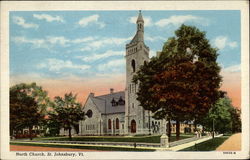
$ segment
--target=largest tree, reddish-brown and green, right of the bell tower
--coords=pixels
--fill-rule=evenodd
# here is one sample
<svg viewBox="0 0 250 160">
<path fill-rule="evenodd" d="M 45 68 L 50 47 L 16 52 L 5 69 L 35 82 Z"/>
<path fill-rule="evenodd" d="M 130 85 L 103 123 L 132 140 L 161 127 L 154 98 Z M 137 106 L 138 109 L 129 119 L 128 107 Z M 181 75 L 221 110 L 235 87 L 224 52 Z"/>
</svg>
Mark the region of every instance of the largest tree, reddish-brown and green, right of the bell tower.
<svg viewBox="0 0 250 160">
<path fill-rule="evenodd" d="M 134 82 L 139 81 L 138 101 L 144 109 L 157 119 L 174 119 L 178 125 L 208 112 L 221 96 L 222 80 L 217 50 L 205 32 L 182 25 L 175 35 L 164 44 L 159 57 L 140 68 Z M 179 138 L 179 131 L 176 136 Z"/>
</svg>

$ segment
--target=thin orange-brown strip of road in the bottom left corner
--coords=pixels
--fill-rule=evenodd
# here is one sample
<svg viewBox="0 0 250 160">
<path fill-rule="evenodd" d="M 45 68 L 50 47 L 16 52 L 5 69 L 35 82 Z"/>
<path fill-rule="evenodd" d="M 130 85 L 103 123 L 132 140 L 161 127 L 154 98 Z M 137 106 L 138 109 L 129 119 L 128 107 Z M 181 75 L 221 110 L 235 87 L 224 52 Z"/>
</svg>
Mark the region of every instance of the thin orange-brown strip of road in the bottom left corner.
<svg viewBox="0 0 250 160">
<path fill-rule="evenodd" d="M 10 151 L 75 151 L 75 152 L 80 152 L 80 151 L 97 151 L 97 150 L 10 145 Z"/>
</svg>

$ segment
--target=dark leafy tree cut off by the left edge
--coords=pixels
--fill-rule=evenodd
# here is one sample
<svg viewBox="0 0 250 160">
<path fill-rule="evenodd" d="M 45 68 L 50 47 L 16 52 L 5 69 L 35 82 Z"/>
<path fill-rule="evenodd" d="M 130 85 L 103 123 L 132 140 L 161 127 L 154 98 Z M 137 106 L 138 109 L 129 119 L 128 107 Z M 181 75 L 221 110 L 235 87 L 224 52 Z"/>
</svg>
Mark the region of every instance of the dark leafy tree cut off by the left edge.
<svg viewBox="0 0 250 160">
<path fill-rule="evenodd" d="M 28 127 L 32 139 L 32 128 L 43 120 L 44 115 L 30 94 L 30 89 L 27 84 L 17 84 L 10 88 L 10 134 Z"/>
</svg>

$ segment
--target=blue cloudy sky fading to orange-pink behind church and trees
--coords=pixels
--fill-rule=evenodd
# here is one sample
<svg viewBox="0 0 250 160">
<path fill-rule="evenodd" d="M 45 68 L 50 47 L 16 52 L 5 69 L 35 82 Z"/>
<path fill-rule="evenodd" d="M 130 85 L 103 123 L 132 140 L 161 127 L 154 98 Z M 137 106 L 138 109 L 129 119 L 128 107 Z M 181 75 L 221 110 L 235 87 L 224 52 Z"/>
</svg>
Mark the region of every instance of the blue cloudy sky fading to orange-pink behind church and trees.
<svg viewBox="0 0 250 160">
<path fill-rule="evenodd" d="M 206 32 L 218 49 L 223 83 L 241 105 L 240 11 L 142 11 L 150 57 L 161 51 L 181 24 Z M 136 32 L 138 11 L 10 12 L 10 85 L 36 82 L 51 98 L 95 95 L 125 89 L 125 45 Z"/>
</svg>

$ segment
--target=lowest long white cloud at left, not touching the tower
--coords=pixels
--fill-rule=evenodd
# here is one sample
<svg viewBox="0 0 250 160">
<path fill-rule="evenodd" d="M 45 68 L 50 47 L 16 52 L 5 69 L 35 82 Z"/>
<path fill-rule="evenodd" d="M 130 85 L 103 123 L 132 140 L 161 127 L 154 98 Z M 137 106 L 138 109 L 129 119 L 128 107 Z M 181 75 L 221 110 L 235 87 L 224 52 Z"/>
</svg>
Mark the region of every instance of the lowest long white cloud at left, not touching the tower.
<svg viewBox="0 0 250 160">
<path fill-rule="evenodd" d="M 69 68 L 69 69 L 80 69 L 80 70 L 86 70 L 89 69 L 89 65 L 77 65 L 73 64 L 71 61 L 67 60 L 59 60 L 59 59 L 47 59 L 45 63 L 40 63 L 37 65 L 37 68 L 48 68 L 49 71 L 60 71 L 61 69 L 64 68 Z"/>
</svg>

